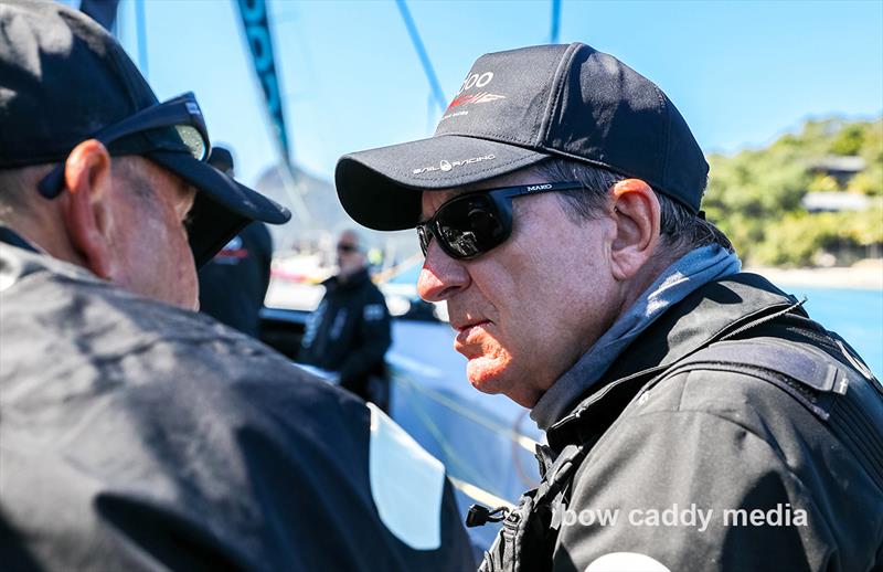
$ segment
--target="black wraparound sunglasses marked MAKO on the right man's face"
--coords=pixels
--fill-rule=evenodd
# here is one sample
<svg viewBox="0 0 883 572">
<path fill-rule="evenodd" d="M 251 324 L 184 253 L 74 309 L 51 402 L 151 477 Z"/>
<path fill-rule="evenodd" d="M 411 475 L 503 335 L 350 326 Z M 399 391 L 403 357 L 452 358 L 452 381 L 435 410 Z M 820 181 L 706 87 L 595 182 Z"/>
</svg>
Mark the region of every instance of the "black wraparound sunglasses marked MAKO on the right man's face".
<svg viewBox="0 0 883 572">
<path fill-rule="evenodd" d="M 522 184 L 455 197 L 439 206 L 432 219 L 417 224 L 423 255 L 435 236 L 451 258 L 480 256 L 512 234 L 512 199 L 582 188 L 578 182 Z"/>
</svg>

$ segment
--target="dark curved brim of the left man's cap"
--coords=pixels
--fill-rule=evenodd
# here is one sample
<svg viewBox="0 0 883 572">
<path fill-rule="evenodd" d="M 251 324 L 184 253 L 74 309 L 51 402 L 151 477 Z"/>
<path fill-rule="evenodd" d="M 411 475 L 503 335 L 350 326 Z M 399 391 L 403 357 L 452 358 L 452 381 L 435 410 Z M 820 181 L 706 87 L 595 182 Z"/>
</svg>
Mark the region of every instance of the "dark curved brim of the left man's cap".
<svg viewBox="0 0 883 572">
<path fill-rule="evenodd" d="M 222 173 L 214 167 L 180 152 L 146 153 L 199 191 L 191 210 L 190 247 L 202 266 L 252 221 L 281 224 L 288 209 Z"/>
</svg>

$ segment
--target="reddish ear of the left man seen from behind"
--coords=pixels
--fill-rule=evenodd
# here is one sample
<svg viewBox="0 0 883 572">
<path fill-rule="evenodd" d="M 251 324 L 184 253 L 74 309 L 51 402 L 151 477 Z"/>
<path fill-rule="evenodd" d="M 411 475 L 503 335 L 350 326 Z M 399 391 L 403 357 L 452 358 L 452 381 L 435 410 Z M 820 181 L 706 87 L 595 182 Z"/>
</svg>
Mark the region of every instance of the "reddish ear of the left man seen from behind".
<svg viewBox="0 0 883 572">
<path fill-rule="evenodd" d="M 114 273 L 110 155 L 100 141 L 77 145 L 64 163 L 62 213 L 71 244 L 100 278 Z"/>
</svg>

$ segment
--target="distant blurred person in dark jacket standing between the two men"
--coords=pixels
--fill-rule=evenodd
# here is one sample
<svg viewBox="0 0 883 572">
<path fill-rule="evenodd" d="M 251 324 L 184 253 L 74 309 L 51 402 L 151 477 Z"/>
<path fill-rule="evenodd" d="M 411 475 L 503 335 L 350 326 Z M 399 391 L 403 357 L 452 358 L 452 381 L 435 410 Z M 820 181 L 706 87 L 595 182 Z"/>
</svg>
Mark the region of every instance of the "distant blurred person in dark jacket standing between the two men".
<svg viewBox="0 0 883 572">
<path fill-rule="evenodd" d="M 322 283 L 326 294 L 310 316 L 298 361 L 336 372 L 340 385 L 365 401 L 389 407 L 384 356 L 392 343 L 390 311 L 368 268 L 355 231 L 340 234 L 338 274 Z"/>
</svg>

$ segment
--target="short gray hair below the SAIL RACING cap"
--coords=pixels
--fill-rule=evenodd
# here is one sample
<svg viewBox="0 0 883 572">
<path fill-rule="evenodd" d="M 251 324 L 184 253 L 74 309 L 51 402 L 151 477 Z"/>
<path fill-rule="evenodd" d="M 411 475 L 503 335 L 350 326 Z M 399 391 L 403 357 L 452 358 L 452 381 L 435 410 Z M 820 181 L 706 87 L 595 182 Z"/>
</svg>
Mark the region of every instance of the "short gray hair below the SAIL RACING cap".
<svg viewBox="0 0 883 572">
<path fill-rule="evenodd" d="M 533 171 L 550 182 L 583 183 L 583 189 L 555 193 L 564 212 L 575 222 L 598 219 L 607 210 L 610 188 L 628 179 L 600 167 L 556 157 L 538 163 Z M 700 246 L 717 244 L 733 252 L 730 239 L 713 223 L 662 193 L 657 192 L 656 195 L 660 206 L 660 235 L 670 251 L 683 254 Z"/>
</svg>

